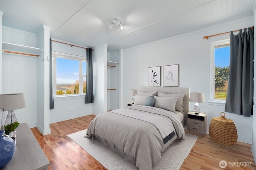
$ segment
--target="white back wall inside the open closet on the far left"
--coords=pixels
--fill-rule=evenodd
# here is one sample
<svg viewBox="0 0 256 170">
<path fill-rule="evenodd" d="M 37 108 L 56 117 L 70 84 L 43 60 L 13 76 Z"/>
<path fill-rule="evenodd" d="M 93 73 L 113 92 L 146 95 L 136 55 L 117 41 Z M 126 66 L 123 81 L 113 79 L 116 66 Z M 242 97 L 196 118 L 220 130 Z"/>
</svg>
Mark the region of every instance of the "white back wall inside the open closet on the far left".
<svg viewBox="0 0 256 170">
<path fill-rule="evenodd" d="M 18 29 L 2 27 L 2 41 L 36 47 L 36 35 Z M 2 94 L 24 93 L 26 107 L 14 110 L 18 122 L 36 127 L 37 59 L 26 55 L 2 53 Z M 8 111 L 5 112 L 6 116 Z M 30 114 L 26 118 L 26 114 Z"/>
</svg>

